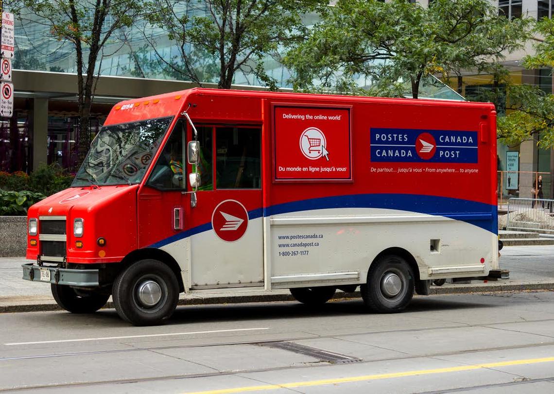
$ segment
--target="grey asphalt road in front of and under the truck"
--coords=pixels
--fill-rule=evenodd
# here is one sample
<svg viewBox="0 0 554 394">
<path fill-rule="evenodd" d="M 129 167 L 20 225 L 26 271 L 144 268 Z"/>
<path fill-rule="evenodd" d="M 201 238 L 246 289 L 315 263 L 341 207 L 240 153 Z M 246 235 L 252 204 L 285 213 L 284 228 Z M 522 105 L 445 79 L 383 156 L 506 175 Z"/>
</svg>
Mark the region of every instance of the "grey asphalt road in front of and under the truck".
<svg viewBox="0 0 554 394">
<path fill-rule="evenodd" d="M 402 314 L 361 300 L 0 314 L 0 391 L 552 393 L 554 292 L 434 295 Z M 298 346 L 301 345 L 301 346 Z"/>
</svg>

